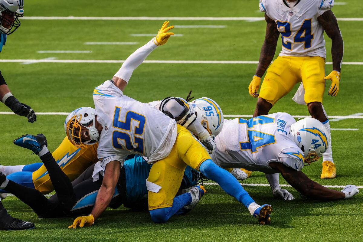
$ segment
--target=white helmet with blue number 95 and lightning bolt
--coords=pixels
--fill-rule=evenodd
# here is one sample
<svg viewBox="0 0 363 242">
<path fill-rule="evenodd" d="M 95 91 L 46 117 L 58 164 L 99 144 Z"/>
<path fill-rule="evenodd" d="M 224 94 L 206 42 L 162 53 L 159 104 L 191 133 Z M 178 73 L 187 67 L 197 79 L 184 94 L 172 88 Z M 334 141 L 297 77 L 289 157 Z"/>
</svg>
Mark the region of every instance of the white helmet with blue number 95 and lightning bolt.
<svg viewBox="0 0 363 242">
<path fill-rule="evenodd" d="M 198 98 L 190 103 L 192 111 L 197 115 L 198 121 L 208 130 L 214 138 L 223 127 L 223 112 L 220 106 L 210 98 Z"/>
</svg>

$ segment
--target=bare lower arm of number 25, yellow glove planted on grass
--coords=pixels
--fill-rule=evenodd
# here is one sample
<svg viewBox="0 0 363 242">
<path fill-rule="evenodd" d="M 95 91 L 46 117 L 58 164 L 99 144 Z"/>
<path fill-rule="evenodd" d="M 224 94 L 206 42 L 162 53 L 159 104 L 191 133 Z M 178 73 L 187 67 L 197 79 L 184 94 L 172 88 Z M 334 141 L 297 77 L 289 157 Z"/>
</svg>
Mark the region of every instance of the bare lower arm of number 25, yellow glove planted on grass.
<svg viewBox="0 0 363 242">
<path fill-rule="evenodd" d="M 94 221 L 106 210 L 115 193 L 115 187 L 120 176 L 120 162 L 111 161 L 106 165 L 103 175 L 102 185 L 98 190 L 96 201 L 89 216 L 77 217 L 69 228 L 75 229 L 77 226 L 91 226 Z"/>
</svg>

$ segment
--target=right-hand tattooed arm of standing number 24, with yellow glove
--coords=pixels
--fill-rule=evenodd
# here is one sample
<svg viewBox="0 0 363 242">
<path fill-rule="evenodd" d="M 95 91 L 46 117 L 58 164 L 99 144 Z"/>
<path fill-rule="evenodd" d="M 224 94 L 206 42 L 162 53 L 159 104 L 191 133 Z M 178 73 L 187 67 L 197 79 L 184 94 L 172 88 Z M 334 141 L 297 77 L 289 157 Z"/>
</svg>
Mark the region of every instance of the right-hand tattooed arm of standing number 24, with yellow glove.
<svg viewBox="0 0 363 242">
<path fill-rule="evenodd" d="M 329 88 L 329 95 L 332 97 L 337 96 L 339 91 L 340 82 L 340 68 L 342 67 L 344 43 L 342 34 L 338 26 L 337 18 L 334 13 L 329 10 L 324 12 L 318 17 L 319 24 L 321 24 L 326 34 L 331 38 L 331 56 L 333 58 L 333 71 L 324 77 L 324 79 L 331 80 Z"/>
</svg>

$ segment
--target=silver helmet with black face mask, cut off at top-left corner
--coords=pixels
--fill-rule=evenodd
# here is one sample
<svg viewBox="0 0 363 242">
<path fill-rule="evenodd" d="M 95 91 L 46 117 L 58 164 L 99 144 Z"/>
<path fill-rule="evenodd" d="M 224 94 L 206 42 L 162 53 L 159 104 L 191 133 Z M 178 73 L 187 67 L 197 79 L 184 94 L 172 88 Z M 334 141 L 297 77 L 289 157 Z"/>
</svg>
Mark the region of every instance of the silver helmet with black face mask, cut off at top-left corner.
<svg viewBox="0 0 363 242">
<path fill-rule="evenodd" d="M 20 20 L 18 17 L 24 15 L 24 1 L 23 0 L 0 0 L 0 33 L 11 34 L 20 26 Z M 14 16 L 14 21 L 9 21 L 4 18 L 4 14 L 9 13 Z M 10 25 L 9 28 L 5 28 L 3 24 Z"/>
</svg>

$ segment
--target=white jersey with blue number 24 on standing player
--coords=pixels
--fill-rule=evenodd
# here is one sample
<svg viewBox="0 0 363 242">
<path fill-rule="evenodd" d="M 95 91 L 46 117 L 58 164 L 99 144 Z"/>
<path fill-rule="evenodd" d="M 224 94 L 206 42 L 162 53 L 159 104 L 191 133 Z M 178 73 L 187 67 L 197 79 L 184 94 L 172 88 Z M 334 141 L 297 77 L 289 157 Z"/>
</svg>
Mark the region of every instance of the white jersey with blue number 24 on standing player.
<svg viewBox="0 0 363 242">
<path fill-rule="evenodd" d="M 277 24 L 281 33 L 280 56 L 326 57 L 324 29 L 318 17 L 330 10 L 334 0 L 301 0 L 294 7 L 284 0 L 260 0 L 260 10 Z"/>
</svg>

